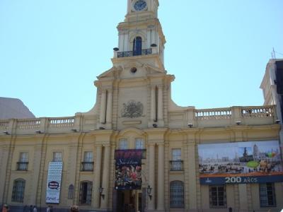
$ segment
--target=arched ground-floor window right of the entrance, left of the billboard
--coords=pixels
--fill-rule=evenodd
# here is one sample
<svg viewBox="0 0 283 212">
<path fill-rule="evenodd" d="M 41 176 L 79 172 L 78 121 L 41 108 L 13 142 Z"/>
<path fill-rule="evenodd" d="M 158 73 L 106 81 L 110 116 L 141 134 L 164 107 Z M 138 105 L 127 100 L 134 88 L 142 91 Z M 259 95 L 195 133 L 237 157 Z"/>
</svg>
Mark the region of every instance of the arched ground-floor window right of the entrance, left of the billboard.
<svg viewBox="0 0 283 212">
<path fill-rule="evenodd" d="M 176 180 L 170 183 L 170 207 L 184 208 L 184 182 Z"/>
</svg>

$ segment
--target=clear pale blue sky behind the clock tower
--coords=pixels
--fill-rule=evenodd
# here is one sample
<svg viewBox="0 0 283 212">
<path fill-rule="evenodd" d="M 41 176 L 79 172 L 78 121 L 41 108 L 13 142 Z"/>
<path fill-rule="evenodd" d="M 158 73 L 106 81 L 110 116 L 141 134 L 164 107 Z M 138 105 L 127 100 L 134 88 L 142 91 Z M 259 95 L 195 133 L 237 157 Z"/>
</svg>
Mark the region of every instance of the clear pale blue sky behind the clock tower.
<svg viewBox="0 0 283 212">
<path fill-rule="evenodd" d="M 282 0 L 159 0 L 172 99 L 197 109 L 262 105 L 260 83 L 283 58 Z M 111 68 L 126 0 L 0 0 L 0 97 L 36 117 L 91 110 Z"/>
</svg>

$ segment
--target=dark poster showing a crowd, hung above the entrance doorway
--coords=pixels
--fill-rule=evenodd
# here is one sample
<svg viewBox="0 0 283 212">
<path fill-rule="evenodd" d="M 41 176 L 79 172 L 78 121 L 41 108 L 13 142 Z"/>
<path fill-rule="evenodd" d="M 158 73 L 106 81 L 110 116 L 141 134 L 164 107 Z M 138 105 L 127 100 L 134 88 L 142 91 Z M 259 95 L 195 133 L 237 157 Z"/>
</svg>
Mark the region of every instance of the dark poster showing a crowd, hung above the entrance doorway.
<svg viewBox="0 0 283 212">
<path fill-rule="evenodd" d="M 115 189 L 141 189 L 142 150 L 115 151 Z"/>
</svg>

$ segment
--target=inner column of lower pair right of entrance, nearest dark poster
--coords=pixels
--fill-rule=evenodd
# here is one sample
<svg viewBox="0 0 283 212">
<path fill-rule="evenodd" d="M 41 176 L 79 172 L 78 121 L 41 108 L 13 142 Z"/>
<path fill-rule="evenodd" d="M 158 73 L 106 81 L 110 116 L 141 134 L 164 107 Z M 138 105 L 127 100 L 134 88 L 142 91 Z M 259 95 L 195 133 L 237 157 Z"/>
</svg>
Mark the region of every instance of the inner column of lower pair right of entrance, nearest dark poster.
<svg viewBox="0 0 283 212">
<path fill-rule="evenodd" d="M 148 199 L 148 210 L 154 210 L 154 197 L 155 197 L 155 189 L 154 189 L 154 146 L 155 143 L 149 144 L 149 186 L 151 187 L 151 200 Z"/>
</svg>

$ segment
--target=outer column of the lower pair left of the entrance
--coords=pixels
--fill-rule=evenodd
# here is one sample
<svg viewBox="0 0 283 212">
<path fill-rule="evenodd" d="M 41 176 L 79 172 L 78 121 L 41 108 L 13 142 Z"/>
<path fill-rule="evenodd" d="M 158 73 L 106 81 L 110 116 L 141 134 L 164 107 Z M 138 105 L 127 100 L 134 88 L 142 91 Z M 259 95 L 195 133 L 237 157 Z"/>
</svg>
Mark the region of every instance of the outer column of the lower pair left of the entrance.
<svg viewBox="0 0 283 212">
<path fill-rule="evenodd" d="M 99 187 L 100 187 L 100 167 L 101 167 L 101 152 L 102 146 L 96 146 L 96 167 L 95 167 L 95 177 L 94 177 L 94 208 L 99 208 L 100 202 L 100 194 L 99 194 Z"/>
</svg>

